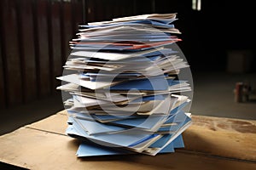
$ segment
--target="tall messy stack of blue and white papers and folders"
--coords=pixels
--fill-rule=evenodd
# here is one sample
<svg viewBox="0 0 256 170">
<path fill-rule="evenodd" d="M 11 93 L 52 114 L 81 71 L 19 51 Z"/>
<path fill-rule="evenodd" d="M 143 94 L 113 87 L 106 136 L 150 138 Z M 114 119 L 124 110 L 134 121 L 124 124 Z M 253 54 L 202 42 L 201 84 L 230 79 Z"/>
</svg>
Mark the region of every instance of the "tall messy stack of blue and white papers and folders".
<svg viewBox="0 0 256 170">
<path fill-rule="evenodd" d="M 57 77 L 67 134 L 80 140 L 77 156 L 155 156 L 183 147 L 191 119 L 182 93 L 191 88 L 178 77 L 189 65 L 172 48 L 180 41 L 174 20 L 145 14 L 80 26 Z"/>
</svg>

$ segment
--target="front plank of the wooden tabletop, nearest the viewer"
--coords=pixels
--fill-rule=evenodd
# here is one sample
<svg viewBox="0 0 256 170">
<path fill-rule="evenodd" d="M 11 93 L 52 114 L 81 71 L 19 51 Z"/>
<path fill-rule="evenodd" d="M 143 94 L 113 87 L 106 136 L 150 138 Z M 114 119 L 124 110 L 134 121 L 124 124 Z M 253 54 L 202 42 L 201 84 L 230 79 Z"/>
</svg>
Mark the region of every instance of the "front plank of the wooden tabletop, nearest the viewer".
<svg viewBox="0 0 256 170">
<path fill-rule="evenodd" d="M 157 156 L 75 156 L 78 140 L 21 127 L 0 137 L 0 161 L 29 169 L 255 169 L 256 164 L 186 153 Z"/>
</svg>

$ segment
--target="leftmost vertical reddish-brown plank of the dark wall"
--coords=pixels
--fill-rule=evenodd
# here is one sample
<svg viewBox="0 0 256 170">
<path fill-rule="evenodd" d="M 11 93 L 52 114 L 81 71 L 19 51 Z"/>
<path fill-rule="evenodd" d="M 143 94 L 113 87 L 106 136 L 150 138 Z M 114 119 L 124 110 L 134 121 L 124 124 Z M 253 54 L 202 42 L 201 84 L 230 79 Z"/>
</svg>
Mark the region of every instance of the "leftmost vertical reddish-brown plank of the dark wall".
<svg viewBox="0 0 256 170">
<path fill-rule="evenodd" d="M 20 68 L 20 54 L 18 44 L 17 14 L 15 0 L 3 0 L 2 3 L 2 34 L 3 65 L 5 65 L 5 89 L 7 105 L 17 105 L 22 101 L 22 77 Z M 1 40 L 2 41 L 2 40 Z"/>
</svg>

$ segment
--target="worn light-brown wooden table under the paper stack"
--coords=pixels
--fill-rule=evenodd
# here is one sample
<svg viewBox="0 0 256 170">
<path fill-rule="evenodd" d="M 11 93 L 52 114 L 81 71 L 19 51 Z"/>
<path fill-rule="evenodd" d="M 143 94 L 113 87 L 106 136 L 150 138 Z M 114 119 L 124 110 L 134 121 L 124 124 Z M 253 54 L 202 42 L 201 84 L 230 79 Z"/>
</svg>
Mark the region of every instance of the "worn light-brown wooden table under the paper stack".
<svg viewBox="0 0 256 170">
<path fill-rule="evenodd" d="M 65 134 L 67 113 L 0 137 L 0 161 L 28 169 L 256 169 L 256 121 L 193 116 L 184 149 L 157 156 L 77 158 L 79 141 Z"/>
</svg>

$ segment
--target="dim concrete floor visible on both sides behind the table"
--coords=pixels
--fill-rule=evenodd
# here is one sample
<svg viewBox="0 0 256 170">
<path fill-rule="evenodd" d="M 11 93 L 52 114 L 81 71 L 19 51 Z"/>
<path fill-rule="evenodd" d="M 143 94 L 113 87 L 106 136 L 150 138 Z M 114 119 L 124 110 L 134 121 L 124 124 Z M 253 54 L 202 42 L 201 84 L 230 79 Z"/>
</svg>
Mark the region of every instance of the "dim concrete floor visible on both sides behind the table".
<svg viewBox="0 0 256 170">
<path fill-rule="evenodd" d="M 236 82 L 250 81 L 256 88 L 256 74 L 193 73 L 194 98 L 190 112 L 193 115 L 224 116 L 256 120 L 256 98 L 247 103 L 234 102 Z M 0 135 L 36 122 L 63 110 L 61 93 L 27 105 L 0 111 Z"/>
</svg>

